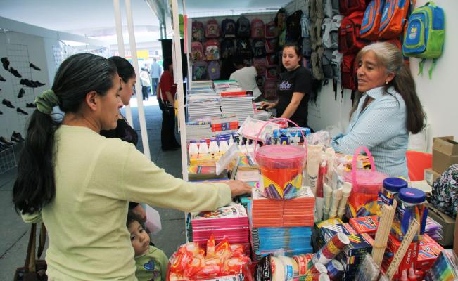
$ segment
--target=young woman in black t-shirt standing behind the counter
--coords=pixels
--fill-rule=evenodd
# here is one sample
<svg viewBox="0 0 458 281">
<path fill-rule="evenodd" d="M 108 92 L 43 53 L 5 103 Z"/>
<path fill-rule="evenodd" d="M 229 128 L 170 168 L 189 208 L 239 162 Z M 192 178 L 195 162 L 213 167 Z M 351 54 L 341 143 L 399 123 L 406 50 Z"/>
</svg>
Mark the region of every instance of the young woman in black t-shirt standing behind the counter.
<svg viewBox="0 0 458 281">
<path fill-rule="evenodd" d="M 301 127 L 307 127 L 307 104 L 312 92 L 312 74 L 300 65 L 302 54 L 295 44 L 283 47 L 281 62 L 286 72 L 281 73 L 276 87 L 279 97 L 273 103 L 262 102 L 266 109 L 276 107 L 276 116 L 288 118 Z"/>
</svg>

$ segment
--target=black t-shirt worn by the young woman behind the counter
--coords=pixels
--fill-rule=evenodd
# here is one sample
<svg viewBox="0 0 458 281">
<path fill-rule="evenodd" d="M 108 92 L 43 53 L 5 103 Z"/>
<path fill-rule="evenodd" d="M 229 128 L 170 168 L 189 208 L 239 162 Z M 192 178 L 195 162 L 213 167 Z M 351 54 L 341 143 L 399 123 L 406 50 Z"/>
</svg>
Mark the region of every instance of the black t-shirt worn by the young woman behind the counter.
<svg viewBox="0 0 458 281">
<path fill-rule="evenodd" d="M 299 126 L 307 126 L 307 105 L 310 93 L 312 93 L 312 74 L 305 67 L 300 66 L 295 70 L 281 73 L 280 82 L 276 87 L 276 93 L 279 96 L 279 103 L 276 105 L 278 117 L 291 103 L 294 92 L 305 93 L 305 96 L 300 100 L 297 110 L 289 119 Z"/>
</svg>

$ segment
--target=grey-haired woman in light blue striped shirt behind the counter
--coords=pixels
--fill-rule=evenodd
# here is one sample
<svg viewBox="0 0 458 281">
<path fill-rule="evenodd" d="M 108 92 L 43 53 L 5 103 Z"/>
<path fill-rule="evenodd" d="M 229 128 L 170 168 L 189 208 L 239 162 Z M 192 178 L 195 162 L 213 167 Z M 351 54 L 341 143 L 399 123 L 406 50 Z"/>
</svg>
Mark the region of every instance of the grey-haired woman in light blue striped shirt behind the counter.
<svg viewBox="0 0 458 281">
<path fill-rule="evenodd" d="M 387 42 L 365 46 L 356 60 L 358 98 L 345 135 L 333 138 L 331 145 L 345 154 L 366 146 L 378 171 L 408 178 L 409 133 L 419 133 L 425 119 L 409 67 L 401 51 Z"/>
</svg>

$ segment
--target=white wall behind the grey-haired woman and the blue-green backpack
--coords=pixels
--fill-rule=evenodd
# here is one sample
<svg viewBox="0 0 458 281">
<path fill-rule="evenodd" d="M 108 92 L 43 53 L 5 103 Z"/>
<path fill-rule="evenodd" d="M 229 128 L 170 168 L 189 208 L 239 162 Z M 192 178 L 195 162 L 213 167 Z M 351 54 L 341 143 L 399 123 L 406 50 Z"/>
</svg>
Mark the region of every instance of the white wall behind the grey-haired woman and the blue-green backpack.
<svg viewBox="0 0 458 281">
<path fill-rule="evenodd" d="M 423 6 L 427 0 L 417 0 L 416 7 Z M 423 76 L 418 76 L 418 62 L 416 58 L 410 59 L 412 74 L 416 83 L 416 91 L 421 103 L 428 115 L 431 124 L 429 130 L 429 148 L 433 136 L 454 136 L 458 138 L 458 17 L 454 12 L 458 11 L 458 1 L 435 0 L 435 4 L 445 11 L 445 46 L 443 55 L 438 59 L 437 66 L 433 71 L 433 79 L 428 78 L 428 70 L 431 62 L 424 65 Z M 340 85 L 338 85 L 340 88 Z M 340 91 L 338 96 L 340 95 Z M 317 107 L 311 105 L 309 124 L 314 129 L 324 129 L 329 125 L 338 123 L 348 124 L 348 112 L 351 107 L 350 91 L 345 90 L 343 100 L 334 100 L 332 85 L 328 85 L 319 93 L 320 100 Z M 319 111 L 319 114 L 316 112 Z M 319 115 L 317 117 L 317 115 Z M 345 129 L 345 126 L 343 129 Z"/>
</svg>

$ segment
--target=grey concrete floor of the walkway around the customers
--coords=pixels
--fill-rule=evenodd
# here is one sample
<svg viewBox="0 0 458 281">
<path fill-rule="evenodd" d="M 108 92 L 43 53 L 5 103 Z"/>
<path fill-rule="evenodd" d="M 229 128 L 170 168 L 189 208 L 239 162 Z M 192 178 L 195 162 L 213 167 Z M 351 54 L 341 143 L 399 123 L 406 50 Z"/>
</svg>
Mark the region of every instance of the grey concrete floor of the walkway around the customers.
<svg viewBox="0 0 458 281">
<path fill-rule="evenodd" d="M 132 100 L 136 105 L 136 100 Z M 151 161 L 164 168 L 167 173 L 181 178 L 182 162 L 180 151 L 163 152 L 160 150 L 160 124 L 162 112 L 155 97 L 145 104 L 146 127 L 151 150 Z M 139 133 L 138 112 L 132 107 L 134 128 Z M 141 138 L 137 148 L 142 149 Z M 179 140 L 177 136 L 177 140 Z M 15 169 L 0 175 L 0 280 L 13 280 L 15 268 L 23 266 L 27 242 L 29 239 L 30 225 L 22 221 L 15 213 L 11 203 L 11 192 L 15 181 Z M 162 221 L 162 230 L 155 235 L 155 246 L 163 249 L 167 256 L 177 250 L 179 245 L 186 242 L 184 235 L 184 213 L 172 209 L 157 209 Z"/>
</svg>

